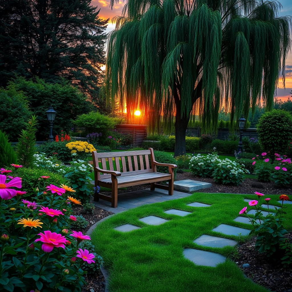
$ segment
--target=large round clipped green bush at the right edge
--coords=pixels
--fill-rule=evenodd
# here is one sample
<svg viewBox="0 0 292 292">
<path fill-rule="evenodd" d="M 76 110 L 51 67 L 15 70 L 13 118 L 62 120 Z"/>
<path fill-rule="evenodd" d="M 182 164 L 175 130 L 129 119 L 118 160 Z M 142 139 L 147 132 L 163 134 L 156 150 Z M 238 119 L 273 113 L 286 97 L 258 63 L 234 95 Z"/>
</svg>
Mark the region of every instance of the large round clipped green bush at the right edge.
<svg viewBox="0 0 292 292">
<path fill-rule="evenodd" d="M 285 154 L 292 140 L 292 116 L 283 109 L 272 109 L 260 117 L 257 132 L 265 151 Z"/>
</svg>

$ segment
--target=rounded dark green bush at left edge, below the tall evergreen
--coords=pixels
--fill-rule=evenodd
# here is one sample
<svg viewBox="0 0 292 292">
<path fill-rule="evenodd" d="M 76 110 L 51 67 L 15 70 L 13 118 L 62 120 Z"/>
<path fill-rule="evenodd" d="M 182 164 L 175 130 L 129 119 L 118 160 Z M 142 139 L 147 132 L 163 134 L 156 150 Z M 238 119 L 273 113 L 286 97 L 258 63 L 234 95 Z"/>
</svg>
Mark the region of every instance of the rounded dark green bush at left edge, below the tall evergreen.
<svg viewBox="0 0 292 292">
<path fill-rule="evenodd" d="M 0 105 L 0 129 L 11 141 L 17 141 L 30 116 L 27 100 L 22 92 L 8 86 L 7 89 L 0 88 Z"/>
</svg>

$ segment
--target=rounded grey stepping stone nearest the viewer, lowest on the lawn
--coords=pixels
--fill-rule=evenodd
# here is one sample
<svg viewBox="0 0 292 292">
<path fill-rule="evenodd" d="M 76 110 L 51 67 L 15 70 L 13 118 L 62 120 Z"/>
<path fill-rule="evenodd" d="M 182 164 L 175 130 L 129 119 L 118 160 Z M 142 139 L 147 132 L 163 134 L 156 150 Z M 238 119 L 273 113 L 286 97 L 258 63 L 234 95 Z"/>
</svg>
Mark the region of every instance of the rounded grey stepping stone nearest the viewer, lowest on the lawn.
<svg viewBox="0 0 292 292">
<path fill-rule="evenodd" d="M 196 265 L 216 267 L 216 265 L 224 263 L 226 258 L 218 253 L 212 253 L 211 251 L 201 251 L 194 248 L 185 248 L 183 255 L 188 260 L 192 261 Z"/>
</svg>

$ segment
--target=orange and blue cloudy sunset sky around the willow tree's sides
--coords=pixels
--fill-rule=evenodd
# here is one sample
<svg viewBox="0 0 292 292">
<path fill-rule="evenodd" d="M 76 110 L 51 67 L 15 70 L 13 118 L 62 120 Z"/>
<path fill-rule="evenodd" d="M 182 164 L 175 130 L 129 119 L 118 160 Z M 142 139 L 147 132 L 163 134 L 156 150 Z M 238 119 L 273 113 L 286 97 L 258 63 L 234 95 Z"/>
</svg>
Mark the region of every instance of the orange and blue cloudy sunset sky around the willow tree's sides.
<svg viewBox="0 0 292 292">
<path fill-rule="evenodd" d="M 281 9 L 279 16 L 292 15 L 292 1 L 291 0 L 279 0 L 283 8 Z M 111 23 L 111 19 L 116 15 L 121 15 L 121 11 L 124 7 L 124 2 L 120 1 L 118 4 L 114 4 L 114 7 L 110 8 L 110 1 L 107 0 L 92 0 L 94 6 L 100 8 L 100 17 L 103 19 L 109 18 L 109 24 L 106 32 L 110 32 L 115 28 L 115 24 Z M 277 89 L 277 97 L 282 100 L 287 100 L 289 93 L 292 90 L 292 54 L 289 52 L 286 60 L 286 89 L 282 85 L 282 76 L 279 77 L 279 88 Z"/>
</svg>

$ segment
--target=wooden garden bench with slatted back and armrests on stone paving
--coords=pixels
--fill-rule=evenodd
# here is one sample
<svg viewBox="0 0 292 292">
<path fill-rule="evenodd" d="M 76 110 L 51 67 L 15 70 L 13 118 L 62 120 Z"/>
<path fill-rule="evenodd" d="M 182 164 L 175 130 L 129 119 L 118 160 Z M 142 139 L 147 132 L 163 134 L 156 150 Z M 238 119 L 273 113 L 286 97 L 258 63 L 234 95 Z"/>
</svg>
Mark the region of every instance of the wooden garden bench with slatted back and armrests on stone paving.
<svg viewBox="0 0 292 292">
<path fill-rule="evenodd" d="M 121 159 L 122 167 L 120 167 L 119 158 Z M 118 188 L 142 185 L 146 183 L 150 183 L 150 189 L 152 191 L 154 191 L 155 187 L 157 187 L 168 190 L 168 194 L 173 195 L 174 168 L 177 166 L 175 164 L 159 163 L 155 161 L 152 148 L 139 151 L 103 153 L 97 153 L 96 151 L 93 151 L 92 159 L 95 187 L 100 186 L 112 189 L 111 197 L 104 194 L 95 193 L 94 201 L 104 199 L 106 201 L 112 202 L 113 208 L 117 208 Z M 116 165 L 115 169 L 113 159 Z M 99 163 L 101 163 L 102 168 L 99 167 Z M 107 169 L 107 165 L 109 169 Z M 157 166 L 168 167 L 168 173 L 157 172 Z M 168 180 L 168 186 L 157 184 L 157 182 L 164 180 Z"/>
</svg>

